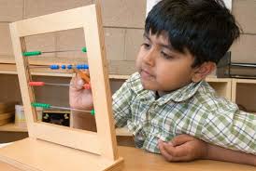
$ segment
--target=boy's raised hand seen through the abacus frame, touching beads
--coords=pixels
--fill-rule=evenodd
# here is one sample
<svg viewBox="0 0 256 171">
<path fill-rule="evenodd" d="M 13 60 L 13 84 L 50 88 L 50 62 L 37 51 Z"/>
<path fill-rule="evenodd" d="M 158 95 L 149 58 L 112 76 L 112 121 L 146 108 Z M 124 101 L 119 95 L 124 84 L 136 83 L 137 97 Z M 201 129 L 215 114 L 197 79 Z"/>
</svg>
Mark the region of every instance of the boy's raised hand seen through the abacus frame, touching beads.
<svg viewBox="0 0 256 171">
<path fill-rule="evenodd" d="M 78 75 L 72 78 L 69 86 L 69 105 L 71 108 L 92 110 L 92 90 L 84 89 L 84 84 Z"/>
</svg>

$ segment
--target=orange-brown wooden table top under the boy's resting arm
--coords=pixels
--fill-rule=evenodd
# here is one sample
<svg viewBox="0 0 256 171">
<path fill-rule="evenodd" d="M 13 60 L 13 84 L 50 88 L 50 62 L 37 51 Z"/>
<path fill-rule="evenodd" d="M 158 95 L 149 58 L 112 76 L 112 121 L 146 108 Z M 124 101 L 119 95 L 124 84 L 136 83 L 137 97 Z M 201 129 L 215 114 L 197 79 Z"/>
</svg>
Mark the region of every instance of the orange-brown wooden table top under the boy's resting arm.
<svg viewBox="0 0 256 171">
<path fill-rule="evenodd" d="M 149 153 L 131 147 L 119 147 L 120 155 L 124 158 L 122 171 L 255 171 L 256 167 L 244 164 L 230 164 L 216 161 L 195 161 L 191 163 L 168 163 L 161 155 Z M 9 164 L 0 162 L 0 170 L 21 171 Z"/>
</svg>

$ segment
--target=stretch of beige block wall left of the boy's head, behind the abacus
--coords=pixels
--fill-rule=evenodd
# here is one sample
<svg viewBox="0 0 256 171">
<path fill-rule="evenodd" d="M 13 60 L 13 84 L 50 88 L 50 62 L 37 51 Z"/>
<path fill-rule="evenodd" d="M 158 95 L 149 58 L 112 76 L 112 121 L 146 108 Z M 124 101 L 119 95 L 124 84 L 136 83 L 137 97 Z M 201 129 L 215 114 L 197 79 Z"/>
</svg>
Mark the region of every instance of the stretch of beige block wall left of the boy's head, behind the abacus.
<svg viewBox="0 0 256 171">
<path fill-rule="evenodd" d="M 94 0 L 0 0 L 0 58 L 13 58 L 8 23 L 74 7 Z M 135 55 L 142 42 L 146 0 L 102 0 L 103 25 L 109 72 L 135 72 Z M 86 20 L 86 17 L 85 17 Z M 65 50 L 84 46 L 81 29 L 26 37 L 27 50 Z M 79 52 L 44 54 L 46 57 L 81 59 Z"/>
</svg>

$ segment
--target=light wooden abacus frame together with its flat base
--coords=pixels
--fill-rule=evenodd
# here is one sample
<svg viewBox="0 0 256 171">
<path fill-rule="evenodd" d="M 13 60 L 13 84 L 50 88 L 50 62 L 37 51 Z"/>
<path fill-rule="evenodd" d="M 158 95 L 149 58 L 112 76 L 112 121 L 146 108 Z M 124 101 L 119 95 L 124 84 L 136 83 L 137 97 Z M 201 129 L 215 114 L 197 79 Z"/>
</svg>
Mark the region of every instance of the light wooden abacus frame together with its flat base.
<svg viewBox="0 0 256 171">
<path fill-rule="evenodd" d="M 112 118 L 100 5 L 78 7 L 33 19 L 16 21 L 10 23 L 9 27 L 29 138 L 1 149 L 0 160 L 18 165 L 25 170 L 68 170 L 70 168 L 78 170 L 79 165 L 84 165 L 87 167 L 87 170 L 93 171 L 119 170 L 123 162 L 118 156 L 115 127 Z M 38 122 L 36 120 L 36 110 L 31 106 L 31 103 L 36 101 L 33 88 L 28 85 L 31 81 L 28 59 L 22 56 L 22 52 L 26 51 L 24 37 L 77 28 L 83 28 L 88 49 L 87 56 L 90 65 L 97 133 Z M 44 158 L 59 160 L 60 164 L 70 163 L 64 162 L 69 156 L 65 156 L 67 158 L 63 159 L 62 157 L 64 156 L 57 155 L 53 157 L 52 155 L 56 155 L 56 153 L 46 152 L 46 148 L 50 151 L 66 152 L 65 154 L 71 157 L 68 159 L 71 160 L 71 164 L 62 164 L 62 167 L 52 165 L 53 168 L 48 164 L 44 165 L 40 161 L 44 159 L 40 159 L 40 156 L 35 156 L 34 151 L 39 152 L 37 155 L 40 152 L 44 153 Z M 20 154 L 16 154 L 17 149 L 19 149 Z M 23 152 L 25 151 L 28 153 L 24 154 Z M 36 157 L 36 159 L 27 160 L 24 158 L 24 155 L 31 155 L 33 158 Z"/>
</svg>

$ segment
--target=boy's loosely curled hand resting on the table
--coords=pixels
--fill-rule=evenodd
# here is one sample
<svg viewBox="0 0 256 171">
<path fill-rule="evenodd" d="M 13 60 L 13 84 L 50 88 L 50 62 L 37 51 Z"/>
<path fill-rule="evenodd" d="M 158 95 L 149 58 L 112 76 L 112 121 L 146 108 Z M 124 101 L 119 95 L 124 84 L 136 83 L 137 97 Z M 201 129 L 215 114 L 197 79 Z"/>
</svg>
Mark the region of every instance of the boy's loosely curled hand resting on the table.
<svg viewBox="0 0 256 171">
<path fill-rule="evenodd" d="M 159 140 L 159 150 L 169 162 L 185 162 L 205 158 L 207 143 L 188 135 L 180 135 L 169 142 Z"/>
</svg>

